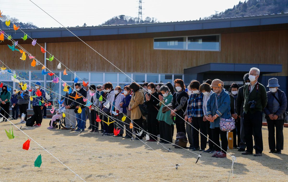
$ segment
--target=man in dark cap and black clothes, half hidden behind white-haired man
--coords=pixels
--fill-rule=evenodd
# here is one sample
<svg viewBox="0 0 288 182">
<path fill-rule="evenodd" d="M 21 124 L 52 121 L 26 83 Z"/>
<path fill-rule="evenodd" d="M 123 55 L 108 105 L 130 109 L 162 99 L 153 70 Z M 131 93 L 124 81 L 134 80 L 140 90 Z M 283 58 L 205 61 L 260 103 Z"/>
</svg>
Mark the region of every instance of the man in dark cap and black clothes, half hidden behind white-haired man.
<svg viewBox="0 0 288 182">
<path fill-rule="evenodd" d="M 249 84 L 249 73 L 246 73 L 244 75 L 244 83 Z M 244 128 L 243 128 L 243 106 L 244 106 L 244 86 L 240 87 L 238 89 L 238 94 L 237 94 L 237 99 L 236 99 L 236 110 L 237 110 L 237 115 L 240 117 L 240 143 L 239 143 L 239 149 L 238 151 L 243 152 L 246 149 L 246 144 L 244 140 Z M 239 136 L 238 136 L 239 137 Z"/>
</svg>

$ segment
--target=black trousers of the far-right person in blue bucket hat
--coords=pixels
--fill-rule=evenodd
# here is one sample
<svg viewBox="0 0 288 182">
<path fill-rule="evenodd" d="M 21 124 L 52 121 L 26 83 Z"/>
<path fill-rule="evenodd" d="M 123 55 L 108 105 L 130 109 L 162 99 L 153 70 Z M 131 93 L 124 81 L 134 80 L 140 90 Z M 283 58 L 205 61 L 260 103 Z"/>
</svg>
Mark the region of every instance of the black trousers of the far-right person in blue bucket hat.
<svg viewBox="0 0 288 182">
<path fill-rule="evenodd" d="M 283 150 L 284 136 L 283 136 L 284 120 L 267 120 L 268 125 L 268 143 L 269 149 Z M 275 145 L 275 127 L 276 127 L 276 145 Z"/>
</svg>

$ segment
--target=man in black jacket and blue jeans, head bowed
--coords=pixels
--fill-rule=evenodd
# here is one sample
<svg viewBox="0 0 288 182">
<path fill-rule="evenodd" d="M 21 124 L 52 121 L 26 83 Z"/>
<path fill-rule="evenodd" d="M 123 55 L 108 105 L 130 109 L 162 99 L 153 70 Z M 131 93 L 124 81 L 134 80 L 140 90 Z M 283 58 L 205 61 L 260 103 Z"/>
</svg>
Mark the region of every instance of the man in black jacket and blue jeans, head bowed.
<svg viewBox="0 0 288 182">
<path fill-rule="evenodd" d="M 80 131 L 80 130 L 84 131 L 85 121 L 86 121 L 86 115 L 85 115 L 86 103 L 83 101 L 83 98 L 87 97 L 87 91 L 84 90 L 83 87 L 81 87 L 80 83 L 76 83 L 75 88 L 77 91 L 76 96 L 78 95 L 77 98 L 75 96 L 76 99 L 74 101 L 74 105 L 76 107 L 75 111 L 77 110 L 77 113 L 76 113 L 77 129 L 75 131 Z"/>
</svg>

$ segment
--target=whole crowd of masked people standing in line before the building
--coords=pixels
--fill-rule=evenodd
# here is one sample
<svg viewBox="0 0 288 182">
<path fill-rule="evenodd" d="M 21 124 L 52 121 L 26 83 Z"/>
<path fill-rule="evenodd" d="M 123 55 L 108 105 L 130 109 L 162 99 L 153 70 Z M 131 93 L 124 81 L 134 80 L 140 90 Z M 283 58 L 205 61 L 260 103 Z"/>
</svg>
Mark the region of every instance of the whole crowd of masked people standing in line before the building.
<svg viewBox="0 0 288 182">
<path fill-rule="evenodd" d="M 177 135 L 187 136 L 187 149 L 226 158 L 227 131 L 222 129 L 221 121 L 229 120 L 235 122 L 235 128 L 231 130 L 233 148 L 243 152 L 243 155 L 252 155 L 255 150 L 254 156 L 262 156 L 264 112 L 270 153 L 281 153 L 287 98 L 278 88 L 276 78 L 269 79 L 267 87 L 270 91 L 266 92 L 266 88 L 258 82 L 259 75 L 258 68 L 251 68 L 244 75 L 244 86 L 232 83 L 230 90 L 226 90 L 219 79 L 207 80 L 202 84 L 192 80 L 187 88 L 182 79 L 175 79 L 174 85 L 168 82 L 165 85 L 144 83 L 140 86 L 132 82 L 124 85 L 124 88 L 114 87 L 110 82 L 97 86 L 76 83 L 75 90 L 67 86 L 69 91 L 59 101 L 59 109 L 56 109 L 48 129 L 55 129 L 52 123 L 65 113 L 65 127 L 62 130 L 82 132 L 87 127 L 90 132 L 134 140 L 142 140 L 148 134 L 146 141 L 157 142 L 159 138 L 160 143 L 168 144 L 173 143 L 176 127 Z M 45 98 L 45 91 L 40 82 L 35 83 L 33 96 L 35 126 L 41 126 L 44 105 L 39 105 L 39 101 Z M 3 86 L 0 102 L 1 114 L 6 118 L 9 117 L 11 104 L 12 118 L 18 119 L 19 109 L 20 115 L 26 115 L 24 121 L 27 120 L 29 92 L 22 90 L 21 85 L 20 91 L 16 93 L 13 90 L 12 95 L 7 91 L 7 86 Z"/>
</svg>

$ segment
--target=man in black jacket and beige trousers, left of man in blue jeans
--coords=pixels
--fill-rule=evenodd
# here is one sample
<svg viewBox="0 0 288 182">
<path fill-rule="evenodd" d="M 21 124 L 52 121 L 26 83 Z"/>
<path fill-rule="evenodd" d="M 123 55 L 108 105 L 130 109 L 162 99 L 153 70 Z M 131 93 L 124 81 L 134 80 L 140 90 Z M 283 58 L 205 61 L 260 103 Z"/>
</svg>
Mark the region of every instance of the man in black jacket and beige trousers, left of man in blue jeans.
<svg viewBox="0 0 288 182">
<path fill-rule="evenodd" d="M 70 86 L 67 87 L 68 90 L 70 89 Z M 75 97 L 74 90 L 69 94 L 69 91 L 66 92 L 65 95 L 65 100 L 64 100 L 64 105 L 65 105 L 65 112 L 66 117 L 65 117 L 65 127 L 61 128 L 62 130 L 69 130 L 72 127 L 71 131 L 74 131 L 76 129 L 76 117 L 75 117 L 75 105 L 74 105 L 74 99 L 72 97 Z M 69 97 L 71 96 L 71 97 Z"/>
</svg>

